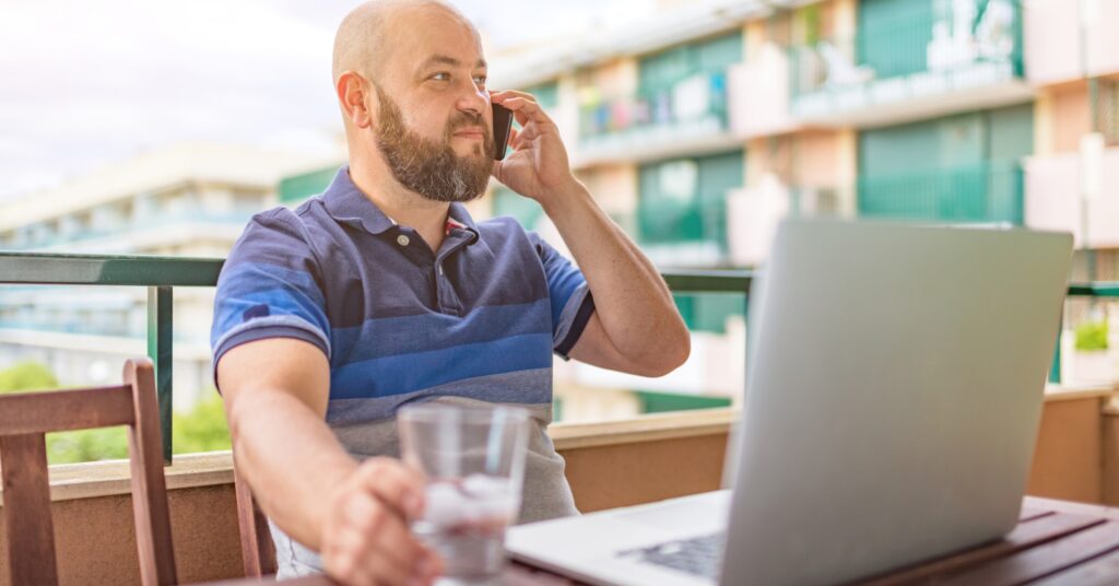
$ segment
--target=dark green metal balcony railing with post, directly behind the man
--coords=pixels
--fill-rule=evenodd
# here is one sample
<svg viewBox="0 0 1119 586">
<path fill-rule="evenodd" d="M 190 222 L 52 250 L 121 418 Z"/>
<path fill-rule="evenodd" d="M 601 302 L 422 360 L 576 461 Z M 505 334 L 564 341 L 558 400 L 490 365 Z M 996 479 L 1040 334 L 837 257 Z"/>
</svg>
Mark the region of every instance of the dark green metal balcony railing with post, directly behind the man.
<svg viewBox="0 0 1119 586">
<path fill-rule="evenodd" d="M 126 286 L 148 288 L 148 355 L 156 365 L 163 459 L 171 462 L 172 296 L 176 287 L 214 287 L 223 259 L 0 252 L 0 285 Z M 665 280 L 677 294 L 750 290 L 746 270 L 673 270 Z M 1076 283 L 1070 296 L 1119 298 L 1119 282 Z M 1060 350 L 1060 344 L 1057 345 Z M 1051 379 L 1060 381 L 1060 354 Z"/>
</svg>

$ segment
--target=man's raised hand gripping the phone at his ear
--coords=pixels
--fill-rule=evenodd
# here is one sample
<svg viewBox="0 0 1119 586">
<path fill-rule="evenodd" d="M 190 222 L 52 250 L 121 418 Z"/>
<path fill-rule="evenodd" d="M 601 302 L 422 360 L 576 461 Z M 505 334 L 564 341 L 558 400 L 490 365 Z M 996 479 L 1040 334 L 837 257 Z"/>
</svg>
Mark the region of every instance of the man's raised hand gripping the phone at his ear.
<svg viewBox="0 0 1119 586">
<path fill-rule="evenodd" d="M 510 189 L 539 202 L 545 212 L 564 194 L 582 188 L 571 171 L 567 149 L 560 139 L 560 129 L 548 118 L 532 94 L 517 91 L 492 92 L 495 104 L 495 142 L 500 140 L 498 108 L 513 112 L 520 129 L 509 131 L 513 152 L 493 161 L 493 176 Z M 500 149 L 498 149 L 500 151 Z"/>
</svg>

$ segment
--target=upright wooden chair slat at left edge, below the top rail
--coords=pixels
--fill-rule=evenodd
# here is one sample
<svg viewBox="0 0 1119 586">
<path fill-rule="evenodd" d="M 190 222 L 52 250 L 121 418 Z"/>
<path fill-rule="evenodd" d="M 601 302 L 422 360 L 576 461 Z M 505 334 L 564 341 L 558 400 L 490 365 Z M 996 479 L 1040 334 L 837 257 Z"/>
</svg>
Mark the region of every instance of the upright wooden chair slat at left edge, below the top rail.
<svg viewBox="0 0 1119 586">
<path fill-rule="evenodd" d="M 58 584 L 44 435 L 0 436 L 0 474 L 11 583 Z"/>
</svg>

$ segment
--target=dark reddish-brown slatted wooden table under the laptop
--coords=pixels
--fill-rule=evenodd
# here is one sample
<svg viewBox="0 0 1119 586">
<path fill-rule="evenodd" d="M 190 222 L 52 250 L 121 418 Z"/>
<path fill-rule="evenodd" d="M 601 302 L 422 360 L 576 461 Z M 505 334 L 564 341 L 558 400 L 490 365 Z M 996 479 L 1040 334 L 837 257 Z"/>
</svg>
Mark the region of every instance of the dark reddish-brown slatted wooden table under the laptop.
<svg viewBox="0 0 1119 586">
<path fill-rule="evenodd" d="M 577 582 L 521 564 L 501 576 L 506 586 L 571 586 Z M 1035 582 L 1036 580 L 1036 582 Z M 859 584 L 948 584 L 999 586 L 1093 586 L 1119 584 L 1119 509 L 1026 496 L 1018 527 L 1004 539 Z M 258 584 L 231 580 L 224 586 Z M 330 586 L 323 576 L 285 582 L 293 586 Z"/>
</svg>

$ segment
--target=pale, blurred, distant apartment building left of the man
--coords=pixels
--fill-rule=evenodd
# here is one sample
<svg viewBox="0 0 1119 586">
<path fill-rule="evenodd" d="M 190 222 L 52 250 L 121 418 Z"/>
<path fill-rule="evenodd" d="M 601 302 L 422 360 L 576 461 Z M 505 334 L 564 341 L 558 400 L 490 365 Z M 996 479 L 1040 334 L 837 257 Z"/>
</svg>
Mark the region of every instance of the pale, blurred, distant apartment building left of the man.
<svg viewBox="0 0 1119 586">
<path fill-rule="evenodd" d="M 180 143 L 0 204 L 0 250 L 217 257 L 248 218 L 276 203 L 279 179 L 321 158 Z M 211 288 L 173 292 L 177 409 L 210 388 Z M 60 382 L 111 383 L 124 357 L 147 353 L 147 290 L 0 288 L 0 368 L 35 360 Z"/>
</svg>

